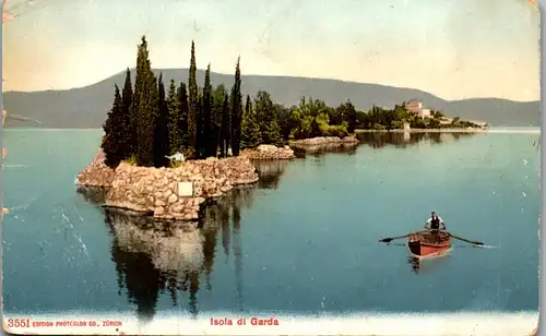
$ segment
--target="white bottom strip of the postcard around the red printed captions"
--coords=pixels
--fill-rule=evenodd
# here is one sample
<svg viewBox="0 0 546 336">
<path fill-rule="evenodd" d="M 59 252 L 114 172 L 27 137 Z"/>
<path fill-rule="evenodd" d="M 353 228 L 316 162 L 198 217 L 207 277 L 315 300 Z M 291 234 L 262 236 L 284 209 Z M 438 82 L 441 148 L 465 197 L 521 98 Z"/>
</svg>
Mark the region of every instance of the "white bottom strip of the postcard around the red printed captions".
<svg viewBox="0 0 546 336">
<path fill-rule="evenodd" d="M 13 315 L 4 317 L 4 329 L 13 334 L 76 334 L 76 335 L 530 335 L 535 328 L 538 313 L 437 313 L 437 314 L 354 314 L 343 317 L 261 315 L 274 317 L 278 325 L 251 325 L 252 316 L 245 316 L 247 325 L 237 325 L 241 316 L 217 313 L 214 319 L 228 319 L 233 325 L 211 325 L 211 315 L 177 317 L 157 315 L 149 324 L 141 324 L 134 314 L 72 314 L 55 316 Z M 29 319 L 33 322 L 63 321 L 76 323 L 94 321 L 91 327 L 25 327 L 7 328 L 8 319 Z M 105 326 L 103 321 L 116 321 L 121 326 Z"/>
</svg>

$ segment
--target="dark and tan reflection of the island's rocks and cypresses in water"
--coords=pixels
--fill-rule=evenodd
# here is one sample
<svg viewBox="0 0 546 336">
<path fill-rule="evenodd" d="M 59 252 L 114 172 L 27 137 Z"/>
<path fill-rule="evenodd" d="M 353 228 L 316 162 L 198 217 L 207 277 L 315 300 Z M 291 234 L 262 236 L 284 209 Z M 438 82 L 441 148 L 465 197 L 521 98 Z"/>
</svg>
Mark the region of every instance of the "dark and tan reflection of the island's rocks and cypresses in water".
<svg viewBox="0 0 546 336">
<path fill-rule="evenodd" d="M 201 212 L 202 219 L 194 223 L 157 220 L 134 212 L 100 207 L 112 237 L 110 252 L 116 265 L 118 293 L 136 305 L 141 322 L 154 317 L 157 300 L 166 292 L 173 307 L 198 315 L 197 295 L 203 283 L 206 290 L 213 290 L 211 276 L 218 251 L 218 233 L 221 251 L 235 256 L 236 305 L 244 311 L 241 213 L 252 206 L 257 189 L 278 187 L 286 164 L 256 163 L 259 183 L 235 188 L 207 202 Z M 87 202 L 102 205 L 107 190 L 79 188 L 78 192 Z"/>
</svg>

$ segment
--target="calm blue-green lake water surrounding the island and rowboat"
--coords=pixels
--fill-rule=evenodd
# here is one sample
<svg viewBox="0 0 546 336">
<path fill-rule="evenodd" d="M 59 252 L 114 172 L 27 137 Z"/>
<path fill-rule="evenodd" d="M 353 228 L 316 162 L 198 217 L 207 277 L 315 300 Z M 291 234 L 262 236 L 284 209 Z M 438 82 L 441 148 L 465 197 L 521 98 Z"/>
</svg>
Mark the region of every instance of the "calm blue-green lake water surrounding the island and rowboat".
<svg viewBox="0 0 546 336">
<path fill-rule="evenodd" d="M 360 134 L 261 164 L 199 231 L 169 232 L 76 193 L 98 130 L 8 129 L 4 312 L 536 311 L 538 136 Z M 416 264 L 403 240 L 377 242 L 432 209 L 489 247 Z"/>
</svg>

